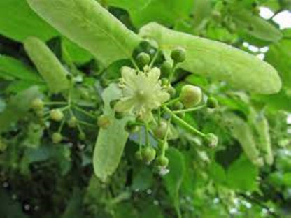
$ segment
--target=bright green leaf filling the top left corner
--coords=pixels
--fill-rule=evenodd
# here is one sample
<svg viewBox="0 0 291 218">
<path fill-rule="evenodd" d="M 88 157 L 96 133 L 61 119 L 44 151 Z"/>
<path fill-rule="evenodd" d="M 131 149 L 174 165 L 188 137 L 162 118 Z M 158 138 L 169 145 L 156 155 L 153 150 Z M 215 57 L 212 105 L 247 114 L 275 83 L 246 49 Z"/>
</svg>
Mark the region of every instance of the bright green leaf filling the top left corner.
<svg viewBox="0 0 291 218">
<path fill-rule="evenodd" d="M 25 0 L 0 1 L 0 34 L 15 41 L 36 36 L 43 41 L 57 36 L 55 29 L 41 20 Z"/>
</svg>

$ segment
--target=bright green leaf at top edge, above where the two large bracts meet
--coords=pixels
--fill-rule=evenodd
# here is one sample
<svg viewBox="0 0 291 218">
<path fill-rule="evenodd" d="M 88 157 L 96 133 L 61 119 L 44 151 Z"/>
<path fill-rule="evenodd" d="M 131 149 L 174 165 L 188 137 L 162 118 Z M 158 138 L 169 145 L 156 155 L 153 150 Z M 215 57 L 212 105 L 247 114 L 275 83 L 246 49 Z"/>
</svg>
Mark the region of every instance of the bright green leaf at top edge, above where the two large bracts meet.
<svg viewBox="0 0 291 218">
<path fill-rule="evenodd" d="M 152 21 L 171 27 L 178 20 L 187 18 L 193 8 L 192 0 L 107 0 L 106 3 L 127 10 L 136 27 Z"/>
</svg>

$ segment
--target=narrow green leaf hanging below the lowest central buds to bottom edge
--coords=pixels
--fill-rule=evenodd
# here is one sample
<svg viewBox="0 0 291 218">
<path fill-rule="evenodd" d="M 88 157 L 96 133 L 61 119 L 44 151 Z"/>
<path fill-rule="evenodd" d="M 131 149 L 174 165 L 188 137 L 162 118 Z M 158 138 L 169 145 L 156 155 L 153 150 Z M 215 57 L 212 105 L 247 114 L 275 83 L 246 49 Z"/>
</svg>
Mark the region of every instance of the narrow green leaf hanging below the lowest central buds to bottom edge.
<svg viewBox="0 0 291 218">
<path fill-rule="evenodd" d="M 169 173 L 164 176 L 164 185 L 171 196 L 178 217 L 180 214 L 179 190 L 185 175 L 185 162 L 183 154 L 176 148 L 170 147 L 166 156 L 169 158 Z"/>
</svg>

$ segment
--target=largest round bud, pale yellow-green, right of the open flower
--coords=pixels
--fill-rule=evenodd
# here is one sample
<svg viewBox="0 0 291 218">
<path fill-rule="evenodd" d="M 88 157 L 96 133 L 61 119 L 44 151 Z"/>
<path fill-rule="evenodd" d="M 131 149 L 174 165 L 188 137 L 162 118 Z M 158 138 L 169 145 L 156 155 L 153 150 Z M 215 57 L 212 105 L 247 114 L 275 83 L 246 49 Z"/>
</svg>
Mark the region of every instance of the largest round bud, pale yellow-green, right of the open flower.
<svg viewBox="0 0 291 218">
<path fill-rule="evenodd" d="M 180 92 L 180 101 L 185 108 L 192 108 L 202 100 L 202 91 L 200 87 L 194 85 L 184 85 Z"/>
</svg>

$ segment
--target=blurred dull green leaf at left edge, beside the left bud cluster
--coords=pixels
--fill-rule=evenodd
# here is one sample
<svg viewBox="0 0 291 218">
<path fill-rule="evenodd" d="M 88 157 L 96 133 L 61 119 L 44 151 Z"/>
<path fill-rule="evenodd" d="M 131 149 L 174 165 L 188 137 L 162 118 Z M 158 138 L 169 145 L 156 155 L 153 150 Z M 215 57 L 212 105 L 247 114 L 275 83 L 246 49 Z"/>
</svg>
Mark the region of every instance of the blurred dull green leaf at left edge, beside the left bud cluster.
<svg viewBox="0 0 291 218">
<path fill-rule="evenodd" d="M 13 96 L 7 103 L 5 110 L 0 114 L 0 133 L 6 131 L 11 124 L 24 116 L 30 109 L 31 101 L 40 95 L 38 87 L 34 86 Z"/>
</svg>

